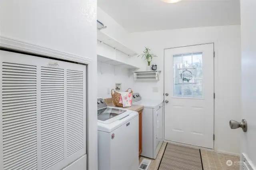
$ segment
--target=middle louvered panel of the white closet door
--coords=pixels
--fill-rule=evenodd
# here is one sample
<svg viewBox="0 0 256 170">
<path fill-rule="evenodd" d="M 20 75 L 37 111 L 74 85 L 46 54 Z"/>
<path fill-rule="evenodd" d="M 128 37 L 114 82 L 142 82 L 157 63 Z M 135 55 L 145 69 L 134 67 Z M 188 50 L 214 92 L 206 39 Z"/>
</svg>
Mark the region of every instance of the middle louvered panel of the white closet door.
<svg viewBox="0 0 256 170">
<path fill-rule="evenodd" d="M 58 79 L 54 79 L 54 75 L 59 75 Z M 48 88 L 51 89 L 51 93 L 48 92 Z M 64 70 L 41 67 L 41 147 L 43 170 L 64 159 L 63 108 Z M 49 124 L 52 122 L 54 123 Z M 60 137 L 56 138 L 56 136 Z M 56 146 L 60 149 L 54 150 Z"/>
</svg>

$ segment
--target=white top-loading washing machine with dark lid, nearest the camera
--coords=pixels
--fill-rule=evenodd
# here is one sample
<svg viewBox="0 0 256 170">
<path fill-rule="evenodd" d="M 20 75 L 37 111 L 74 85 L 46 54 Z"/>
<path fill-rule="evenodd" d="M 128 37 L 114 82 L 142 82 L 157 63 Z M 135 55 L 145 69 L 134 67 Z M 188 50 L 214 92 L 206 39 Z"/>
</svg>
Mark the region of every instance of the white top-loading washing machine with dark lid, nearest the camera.
<svg viewBox="0 0 256 170">
<path fill-rule="evenodd" d="M 138 170 L 138 112 L 97 103 L 98 170 Z"/>
</svg>

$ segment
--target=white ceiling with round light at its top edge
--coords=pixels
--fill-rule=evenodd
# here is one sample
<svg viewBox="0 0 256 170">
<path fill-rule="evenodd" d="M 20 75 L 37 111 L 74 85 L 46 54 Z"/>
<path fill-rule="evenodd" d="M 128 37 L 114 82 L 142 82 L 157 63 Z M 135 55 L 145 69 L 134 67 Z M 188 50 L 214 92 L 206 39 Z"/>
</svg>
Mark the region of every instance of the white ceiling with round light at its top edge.
<svg viewBox="0 0 256 170">
<path fill-rule="evenodd" d="M 240 24 L 239 0 L 98 0 L 98 6 L 129 32 Z"/>
</svg>

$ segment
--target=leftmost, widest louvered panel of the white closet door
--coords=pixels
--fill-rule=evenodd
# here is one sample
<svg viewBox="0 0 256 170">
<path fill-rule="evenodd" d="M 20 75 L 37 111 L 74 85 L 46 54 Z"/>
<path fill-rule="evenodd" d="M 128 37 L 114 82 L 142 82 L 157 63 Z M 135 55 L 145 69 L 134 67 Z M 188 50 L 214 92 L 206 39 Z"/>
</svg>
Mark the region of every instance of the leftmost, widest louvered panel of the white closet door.
<svg viewBox="0 0 256 170">
<path fill-rule="evenodd" d="M 34 99 L 36 99 L 36 66 L 3 62 L 4 170 L 18 169 L 29 162 L 31 166 L 37 165 L 36 101 Z"/>
</svg>

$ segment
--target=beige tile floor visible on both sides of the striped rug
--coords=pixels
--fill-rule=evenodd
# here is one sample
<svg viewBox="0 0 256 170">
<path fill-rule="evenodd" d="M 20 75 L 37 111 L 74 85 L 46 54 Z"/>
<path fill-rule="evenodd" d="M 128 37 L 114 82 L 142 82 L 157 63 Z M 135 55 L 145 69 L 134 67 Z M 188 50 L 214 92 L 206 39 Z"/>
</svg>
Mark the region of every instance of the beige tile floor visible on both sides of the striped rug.
<svg viewBox="0 0 256 170">
<path fill-rule="evenodd" d="M 148 170 L 158 170 L 166 144 L 166 142 L 163 142 L 155 160 L 147 158 L 151 160 Z M 201 150 L 201 156 L 204 170 L 239 170 L 239 164 L 236 164 L 236 161 L 240 161 L 240 157 L 238 156 L 220 154 L 208 150 Z M 143 156 L 140 156 L 139 162 L 141 162 L 143 158 Z M 227 166 L 227 160 L 232 160 L 233 164 Z"/>
</svg>

